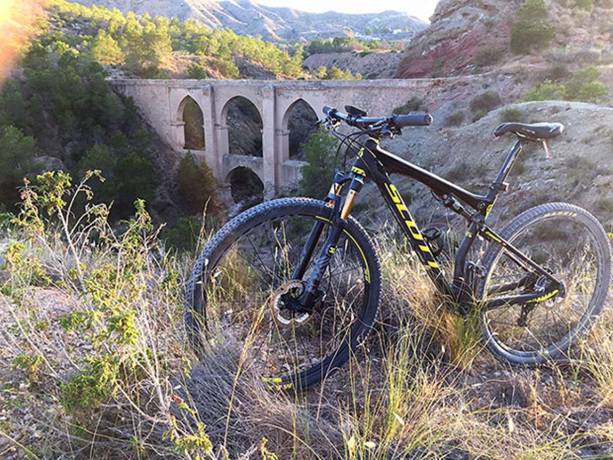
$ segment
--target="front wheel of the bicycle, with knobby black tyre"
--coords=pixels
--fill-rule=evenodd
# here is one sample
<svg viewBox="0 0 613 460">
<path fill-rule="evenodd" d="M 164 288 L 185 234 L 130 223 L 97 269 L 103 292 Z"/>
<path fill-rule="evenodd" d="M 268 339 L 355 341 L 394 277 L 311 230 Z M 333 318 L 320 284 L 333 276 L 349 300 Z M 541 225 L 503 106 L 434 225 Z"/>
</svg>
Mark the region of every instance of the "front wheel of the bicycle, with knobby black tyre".
<svg viewBox="0 0 613 460">
<path fill-rule="evenodd" d="M 313 310 L 296 309 L 332 212 L 313 199 L 278 199 L 246 210 L 219 230 L 187 289 L 186 324 L 194 345 L 238 344 L 243 370 L 283 388 L 307 388 L 345 364 L 375 320 L 381 291 L 375 249 L 354 218 L 341 234 Z M 316 225 L 313 257 L 295 279 Z"/>
</svg>

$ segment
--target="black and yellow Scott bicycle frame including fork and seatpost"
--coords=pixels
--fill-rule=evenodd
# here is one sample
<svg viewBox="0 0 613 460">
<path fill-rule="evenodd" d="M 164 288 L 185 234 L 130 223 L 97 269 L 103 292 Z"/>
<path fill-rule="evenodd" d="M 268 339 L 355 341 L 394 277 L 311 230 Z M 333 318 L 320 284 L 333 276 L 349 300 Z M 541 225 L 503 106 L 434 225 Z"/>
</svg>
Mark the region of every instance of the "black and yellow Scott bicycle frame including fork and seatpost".
<svg viewBox="0 0 613 460">
<path fill-rule="evenodd" d="M 500 194 L 501 191 L 508 190 L 508 184 L 505 181 L 521 150 L 522 144 L 520 140 L 517 140 L 509 151 L 503 166 L 498 172 L 496 180 L 489 186 L 487 193 L 480 195 L 471 193 L 416 164 L 406 161 L 389 151 L 383 150 L 377 139 L 369 137 L 364 143 L 364 148 L 360 150 L 358 158 L 351 169 L 351 173 L 348 175 L 337 173 L 335 177 L 335 183 L 328 196 L 329 201 L 333 202 L 335 205 L 335 212 L 333 214 L 335 223 L 324 245 L 324 250 L 321 256 L 319 256 L 316 269 L 313 274 L 311 274 L 309 283 L 305 289 L 305 294 L 303 294 L 303 298 L 301 299 L 302 305 L 309 305 L 309 302 L 313 301 L 314 291 L 319 285 L 319 279 L 321 279 L 321 275 L 332 257 L 335 243 L 338 241 L 338 235 L 340 235 L 343 226 L 343 221 L 348 217 L 356 196 L 362 188 L 362 184 L 366 178 L 370 178 L 376 183 L 387 206 L 394 215 L 395 220 L 400 225 L 400 228 L 402 228 L 403 233 L 411 243 L 411 247 L 417 253 L 417 256 L 438 290 L 445 296 L 449 296 L 455 304 L 463 307 L 463 313 L 470 310 L 477 298 L 475 292 L 476 283 L 474 282 L 476 276 L 474 272 L 475 267 L 473 264 L 466 263 L 466 256 L 478 236 L 483 237 L 490 243 L 495 243 L 503 247 L 506 255 L 511 258 L 514 263 L 523 267 L 527 275 L 536 273 L 539 276 L 546 277 L 547 280 L 550 281 L 548 288 L 539 293 L 493 297 L 485 302 L 485 309 L 495 309 L 509 304 L 541 302 L 560 293 L 560 291 L 563 290 L 562 283 L 547 272 L 546 269 L 524 255 L 510 242 L 504 240 L 485 223 L 485 220 L 495 204 L 498 194 Z M 468 221 L 468 229 L 455 254 L 454 274 L 451 283 L 447 281 L 443 270 L 432 255 L 429 243 L 424 239 L 402 195 L 394 183 L 392 183 L 392 180 L 390 180 L 390 174 L 400 174 L 427 186 L 437 197 L 441 198 L 441 201 L 447 208 L 453 210 Z M 341 188 L 347 183 L 350 184 L 349 193 L 341 209 L 339 193 Z M 465 205 L 462 203 L 469 205 L 473 211 L 471 212 L 466 209 Z M 315 224 L 314 228 L 311 230 L 308 242 L 303 249 L 302 262 L 294 272 L 294 279 L 302 278 L 305 267 L 313 255 L 314 246 L 321 236 L 322 228 L 322 224 Z M 524 278 L 514 283 L 508 283 L 507 285 L 493 286 L 489 293 L 512 291 L 524 286 L 525 283 L 527 282 Z"/>
</svg>

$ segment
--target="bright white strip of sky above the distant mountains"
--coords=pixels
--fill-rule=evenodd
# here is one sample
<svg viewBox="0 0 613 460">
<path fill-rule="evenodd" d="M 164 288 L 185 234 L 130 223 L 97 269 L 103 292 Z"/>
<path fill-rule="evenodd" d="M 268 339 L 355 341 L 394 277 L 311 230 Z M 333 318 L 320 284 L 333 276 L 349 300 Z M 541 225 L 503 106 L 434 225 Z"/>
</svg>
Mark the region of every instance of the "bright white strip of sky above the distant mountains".
<svg viewBox="0 0 613 460">
<path fill-rule="evenodd" d="M 265 6 L 284 6 L 313 13 L 338 11 L 341 13 L 380 13 L 396 10 L 409 13 L 426 22 L 434 12 L 438 0 L 259 0 Z"/>
</svg>

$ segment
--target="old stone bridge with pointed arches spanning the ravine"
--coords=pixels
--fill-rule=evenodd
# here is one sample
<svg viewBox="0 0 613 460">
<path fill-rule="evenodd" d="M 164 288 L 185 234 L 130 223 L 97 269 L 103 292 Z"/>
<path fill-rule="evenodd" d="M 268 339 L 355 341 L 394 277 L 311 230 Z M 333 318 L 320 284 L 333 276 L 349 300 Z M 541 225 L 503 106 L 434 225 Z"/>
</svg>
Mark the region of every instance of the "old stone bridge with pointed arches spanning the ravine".
<svg viewBox="0 0 613 460">
<path fill-rule="evenodd" d="M 151 126 L 178 153 L 186 151 L 183 112 L 192 99 L 202 111 L 204 150 L 190 149 L 205 159 L 221 183 L 239 167 L 253 171 L 272 197 L 295 185 L 305 163 L 289 158 L 288 120 L 292 108 L 304 101 L 321 118 L 324 105 L 346 104 L 369 115 L 388 115 L 411 96 L 422 95 L 443 79 L 412 80 L 129 80 L 110 79 L 118 93 L 131 96 Z M 227 113 L 238 96 L 248 99 L 262 119 L 262 157 L 233 155 Z"/>
</svg>

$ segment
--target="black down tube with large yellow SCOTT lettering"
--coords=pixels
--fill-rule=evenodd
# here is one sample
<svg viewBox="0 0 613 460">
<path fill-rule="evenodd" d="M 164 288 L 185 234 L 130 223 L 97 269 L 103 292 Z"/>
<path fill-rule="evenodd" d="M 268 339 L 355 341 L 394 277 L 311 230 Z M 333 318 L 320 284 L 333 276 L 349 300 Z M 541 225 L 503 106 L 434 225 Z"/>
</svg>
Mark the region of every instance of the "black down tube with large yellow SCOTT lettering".
<svg viewBox="0 0 613 460">
<path fill-rule="evenodd" d="M 411 246 L 417 253 L 417 256 L 419 256 L 419 260 L 424 264 L 428 275 L 432 278 L 432 281 L 441 293 L 451 294 L 451 286 L 447 283 L 443 270 L 438 265 L 438 262 L 430 250 L 430 246 L 413 220 L 413 216 L 411 212 L 409 212 L 405 200 L 400 195 L 396 186 L 390 182 L 389 177 L 386 177 L 384 180 L 382 179 L 382 177 L 379 177 L 379 180 L 376 181 L 377 186 L 385 197 L 387 205 L 392 210 L 398 224 L 400 224 L 406 237 L 411 242 Z"/>
</svg>

